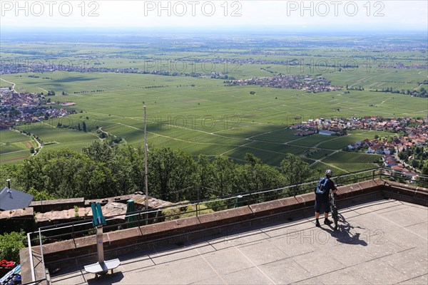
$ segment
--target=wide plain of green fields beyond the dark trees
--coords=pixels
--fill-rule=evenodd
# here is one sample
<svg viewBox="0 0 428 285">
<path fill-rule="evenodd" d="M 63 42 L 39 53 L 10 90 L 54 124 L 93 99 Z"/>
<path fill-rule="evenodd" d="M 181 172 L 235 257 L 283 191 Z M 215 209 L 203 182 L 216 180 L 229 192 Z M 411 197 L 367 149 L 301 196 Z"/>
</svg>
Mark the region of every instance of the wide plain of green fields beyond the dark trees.
<svg viewBox="0 0 428 285">
<path fill-rule="evenodd" d="M 283 41 L 284 38 L 275 38 Z M 292 43 L 302 37 L 291 36 Z M 41 138 L 41 152 L 59 147 L 81 150 L 93 140 L 96 131 L 123 138 L 123 143 L 143 144 L 143 105 L 147 106 L 148 144 L 151 147 L 171 147 L 191 155 L 200 153 L 211 157 L 228 155 L 237 162 L 253 152 L 263 162 L 278 167 L 289 152 L 300 155 L 313 168 L 332 167 L 337 172 L 350 172 L 374 167 L 377 155 L 343 152 L 357 140 L 372 139 L 374 135 L 392 133 L 350 131 L 343 137 L 312 135 L 296 136 L 289 125 L 315 118 L 350 118 L 381 115 L 386 118 L 423 118 L 428 111 L 427 98 L 374 92 L 382 88 L 414 90 L 427 80 L 426 68 L 399 69 L 382 67 L 404 62 L 406 65 L 427 63 L 427 53 L 415 48 L 379 53 L 377 48 L 352 46 L 355 39 L 337 37 L 331 41 L 343 46 L 328 46 L 323 39 L 305 38 L 300 47 L 258 46 L 256 40 L 244 38 L 216 41 L 208 38 L 205 47 L 189 48 L 188 42 L 178 41 L 175 51 L 168 43 L 159 41 L 156 48 L 146 43 L 2 43 L 3 62 L 39 62 L 96 68 L 134 68 L 138 71 L 203 73 L 203 76 L 161 76 L 158 74 L 108 72 L 50 71 L 11 73 L 1 75 L 0 87 L 15 83 L 17 92 L 46 94 L 52 102 L 74 102 L 76 105 L 56 108 L 75 110 L 66 118 L 54 118 L 17 128 Z M 359 39 L 369 44 L 369 39 Z M 379 41 L 388 43 L 387 38 Z M 419 40 L 414 40 L 419 44 Z M 234 48 L 230 48 L 234 43 Z M 197 46 L 197 45 L 195 45 Z M 250 47 L 250 48 L 249 48 Z M 22 54 L 25 48 L 34 54 Z M 210 63 L 218 58 L 230 62 Z M 258 61 L 260 63 L 251 63 Z M 299 66 L 286 61 L 297 60 Z M 207 62 L 200 62 L 207 61 Z M 236 63 L 242 61 L 243 63 Z M 262 63 L 265 61 L 266 63 Z M 281 61 L 282 63 L 277 63 Z M 357 67 L 320 66 L 332 62 L 356 63 Z M 160 67 L 159 67 L 160 66 Z M 78 69 L 78 68 L 77 68 Z M 268 88 L 260 86 L 226 86 L 225 78 L 211 78 L 220 73 L 229 78 L 287 75 L 320 76 L 334 86 L 349 86 L 364 90 L 337 90 L 307 93 L 305 90 Z M 64 92 L 68 95 L 61 95 Z M 253 93 L 253 94 L 251 94 Z M 76 128 L 86 124 L 87 132 L 57 128 Z M 18 133 L 16 133 L 18 134 Z M 1 130 L 1 163 L 16 163 L 28 157 L 27 143 L 36 147 L 28 136 L 12 141 L 15 132 Z M 10 138 L 9 138 L 10 137 Z M 10 142 L 9 142 L 10 140 Z M 28 152 L 28 153 L 27 153 Z"/>
</svg>

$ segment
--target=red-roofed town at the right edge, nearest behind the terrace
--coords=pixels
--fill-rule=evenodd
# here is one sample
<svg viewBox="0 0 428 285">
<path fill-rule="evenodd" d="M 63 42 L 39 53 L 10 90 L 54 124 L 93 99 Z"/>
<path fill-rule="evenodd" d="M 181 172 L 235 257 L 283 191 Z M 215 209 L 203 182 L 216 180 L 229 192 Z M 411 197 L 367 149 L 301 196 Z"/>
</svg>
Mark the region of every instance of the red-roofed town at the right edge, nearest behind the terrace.
<svg viewBox="0 0 428 285">
<path fill-rule="evenodd" d="M 382 155 L 383 165 L 402 172 L 408 177 L 417 176 L 420 168 L 414 160 L 414 152 L 422 153 L 428 144 L 428 118 L 382 118 L 367 116 L 363 118 L 340 118 L 330 120 L 317 118 L 290 126 L 299 130 L 295 135 L 346 135 L 347 130 L 376 130 L 389 132 L 391 136 L 381 138 L 374 135 L 373 139 L 357 140 L 344 147 L 344 151 L 364 152 Z M 420 147 L 420 148 L 419 148 Z M 418 148 L 419 151 L 418 152 Z M 424 158 L 422 157 L 422 160 Z"/>
</svg>

